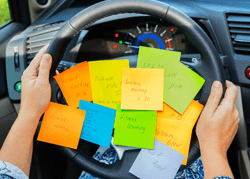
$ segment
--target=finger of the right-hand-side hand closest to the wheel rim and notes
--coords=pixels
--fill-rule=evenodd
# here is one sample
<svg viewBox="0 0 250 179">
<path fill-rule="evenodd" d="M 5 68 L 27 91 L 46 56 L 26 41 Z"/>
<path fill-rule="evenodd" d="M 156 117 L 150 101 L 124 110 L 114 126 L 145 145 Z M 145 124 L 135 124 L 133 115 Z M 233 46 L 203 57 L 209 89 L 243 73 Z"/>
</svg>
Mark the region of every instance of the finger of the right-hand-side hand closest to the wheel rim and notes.
<svg viewBox="0 0 250 179">
<path fill-rule="evenodd" d="M 209 113 L 213 113 L 218 107 L 221 96 L 222 85 L 219 81 L 215 81 L 212 85 L 211 92 L 204 110 L 208 111 Z"/>
</svg>

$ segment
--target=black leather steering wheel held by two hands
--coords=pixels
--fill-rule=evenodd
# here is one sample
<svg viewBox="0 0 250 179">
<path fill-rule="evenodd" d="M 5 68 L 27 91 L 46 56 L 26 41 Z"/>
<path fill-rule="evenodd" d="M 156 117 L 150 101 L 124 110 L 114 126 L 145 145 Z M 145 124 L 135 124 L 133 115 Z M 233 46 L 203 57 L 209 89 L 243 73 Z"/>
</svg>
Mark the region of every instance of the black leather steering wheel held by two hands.
<svg viewBox="0 0 250 179">
<path fill-rule="evenodd" d="M 108 0 L 95 4 L 71 18 L 57 33 L 48 47 L 47 53 L 51 54 L 53 59 L 50 73 L 52 101 L 57 102 L 56 95 L 59 88 L 52 76 L 55 75 L 57 65 L 60 63 L 71 39 L 97 20 L 121 13 L 151 15 L 177 26 L 185 34 L 186 38 L 201 54 L 200 62 L 187 64 L 206 80 L 199 99 L 200 103 L 203 105 L 206 103 L 213 81 L 220 81 L 225 89 L 225 76 L 219 54 L 207 34 L 191 18 L 179 10 L 159 1 Z M 116 161 L 113 165 L 105 165 L 95 161 L 80 150 L 73 150 L 66 147 L 59 148 L 79 168 L 97 177 L 119 179 L 136 178 L 128 171 L 137 157 L 139 150 L 126 151 L 122 160 Z M 190 146 L 187 165 L 181 166 L 179 171 L 192 164 L 199 156 L 199 144 L 197 139 L 195 139 L 195 142 Z"/>
</svg>

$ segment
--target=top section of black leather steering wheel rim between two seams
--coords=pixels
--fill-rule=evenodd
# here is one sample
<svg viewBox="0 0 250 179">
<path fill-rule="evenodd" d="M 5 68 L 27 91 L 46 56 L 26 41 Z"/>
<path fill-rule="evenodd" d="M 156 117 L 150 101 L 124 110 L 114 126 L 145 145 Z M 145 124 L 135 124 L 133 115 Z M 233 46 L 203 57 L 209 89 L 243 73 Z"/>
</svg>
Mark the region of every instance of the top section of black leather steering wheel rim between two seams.
<svg viewBox="0 0 250 179">
<path fill-rule="evenodd" d="M 69 22 L 80 31 L 104 17 L 116 14 L 140 13 L 164 19 L 168 8 L 169 5 L 165 3 L 149 0 L 104 1 L 81 11 Z"/>
</svg>

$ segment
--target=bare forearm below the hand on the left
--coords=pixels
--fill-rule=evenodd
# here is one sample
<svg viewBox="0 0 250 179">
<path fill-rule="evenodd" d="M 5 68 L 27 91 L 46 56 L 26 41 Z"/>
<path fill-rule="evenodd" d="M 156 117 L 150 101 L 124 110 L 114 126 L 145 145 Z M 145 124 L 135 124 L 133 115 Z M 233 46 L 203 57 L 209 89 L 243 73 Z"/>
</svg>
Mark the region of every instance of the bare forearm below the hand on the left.
<svg viewBox="0 0 250 179">
<path fill-rule="evenodd" d="M 20 112 L 4 141 L 0 151 L 0 160 L 20 168 L 29 176 L 33 137 L 40 117 Z"/>
</svg>

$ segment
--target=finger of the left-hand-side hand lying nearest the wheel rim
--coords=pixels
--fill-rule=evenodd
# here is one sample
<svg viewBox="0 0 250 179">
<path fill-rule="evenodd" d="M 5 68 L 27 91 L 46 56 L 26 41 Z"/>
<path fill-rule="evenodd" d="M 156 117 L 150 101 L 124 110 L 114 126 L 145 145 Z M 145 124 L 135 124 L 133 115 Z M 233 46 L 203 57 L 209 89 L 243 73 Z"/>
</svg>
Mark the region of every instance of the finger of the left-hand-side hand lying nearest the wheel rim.
<svg viewBox="0 0 250 179">
<path fill-rule="evenodd" d="M 50 54 L 44 54 L 40 63 L 40 69 L 38 74 L 38 82 L 44 82 L 49 80 L 49 72 L 52 64 L 52 57 Z"/>
</svg>

